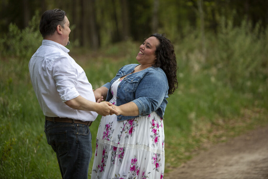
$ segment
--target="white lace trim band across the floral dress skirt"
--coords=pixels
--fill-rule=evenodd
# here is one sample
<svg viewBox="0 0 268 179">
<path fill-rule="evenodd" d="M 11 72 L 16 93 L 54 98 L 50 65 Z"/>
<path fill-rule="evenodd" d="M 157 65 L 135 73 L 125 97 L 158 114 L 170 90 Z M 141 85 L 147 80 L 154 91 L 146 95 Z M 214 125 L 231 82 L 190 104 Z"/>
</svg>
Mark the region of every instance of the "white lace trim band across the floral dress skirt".
<svg viewBox="0 0 268 179">
<path fill-rule="evenodd" d="M 103 144 L 108 144 L 108 145 L 111 145 L 113 147 L 119 147 L 119 148 L 129 148 L 129 149 L 144 149 L 144 150 L 147 150 L 148 152 L 153 152 L 154 154 L 161 154 L 163 156 L 165 156 L 165 151 L 163 150 L 158 150 L 158 149 L 153 149 L 153 148 L 150 148 L 149 146 L 147 145 L 143 145 L 143 144 L 117 144 L 113 141 L 109 141 L 109 140 L 105 140 L 105 139 L 98 139 L 98 141 L 100 143 L 103 143 Z"/>
</svg>

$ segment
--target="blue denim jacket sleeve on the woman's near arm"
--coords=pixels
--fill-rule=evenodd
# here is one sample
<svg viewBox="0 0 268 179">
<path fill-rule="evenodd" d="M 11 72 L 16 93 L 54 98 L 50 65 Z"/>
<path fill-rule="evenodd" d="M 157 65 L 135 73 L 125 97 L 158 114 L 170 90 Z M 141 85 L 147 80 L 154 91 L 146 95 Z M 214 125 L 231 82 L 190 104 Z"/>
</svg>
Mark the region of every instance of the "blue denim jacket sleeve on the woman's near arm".
<svg viewBox="0 0 268 179">
<path fill-rule="evenodd" d="M 161 105 L 168 91 L 166 75 L 159 72 L 148 72 L 140 81 L 135 92 L 135 103 L 139 109 L 139 116 L 149 115 Z"/>
</svg>

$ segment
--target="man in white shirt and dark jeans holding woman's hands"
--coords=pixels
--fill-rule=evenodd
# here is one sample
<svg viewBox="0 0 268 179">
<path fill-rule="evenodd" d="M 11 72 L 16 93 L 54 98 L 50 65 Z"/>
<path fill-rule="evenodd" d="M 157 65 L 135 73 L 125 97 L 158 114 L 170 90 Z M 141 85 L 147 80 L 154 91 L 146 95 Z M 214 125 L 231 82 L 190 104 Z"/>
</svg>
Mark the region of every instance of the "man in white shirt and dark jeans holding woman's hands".
<svg viewBox="0 0 268 179">
<path fill-rule="evenodd" d="M 43 13 L 39 29 L 44 40 L 29 62 L 29 71 L 46 119 L 47 143 L 57 154 L 62 178 L 80 179 L 87 178 L 92 156 L 89 126 L 98 114 L 117 111 L 109 102 L 96 103 L 84 70 L 69 56 L 65 48 L 69 26 L 63 10 Z"/>
</svg>

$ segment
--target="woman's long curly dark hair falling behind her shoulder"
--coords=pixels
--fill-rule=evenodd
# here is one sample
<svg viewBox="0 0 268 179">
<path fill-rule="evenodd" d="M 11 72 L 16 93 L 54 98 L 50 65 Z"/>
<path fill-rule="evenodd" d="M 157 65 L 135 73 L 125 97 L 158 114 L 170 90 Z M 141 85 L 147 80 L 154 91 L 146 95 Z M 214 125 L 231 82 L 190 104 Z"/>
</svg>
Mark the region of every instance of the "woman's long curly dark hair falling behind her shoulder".
<svg viewBox="0 0 268 179">
<path fill-rule="evenodd" d="M 156 37 L 160 44 L 155 50 L 156 63 L 154 67 L 160 67 L 165 72 L 168 78 L 168 96 L 174 93 L 178 88 L 177 81 L 177 61 L 174 52 L 174 46 L 169 39 L 165 38 L 163 34 L 152 34 L 150 37 Z"/>
</svg>

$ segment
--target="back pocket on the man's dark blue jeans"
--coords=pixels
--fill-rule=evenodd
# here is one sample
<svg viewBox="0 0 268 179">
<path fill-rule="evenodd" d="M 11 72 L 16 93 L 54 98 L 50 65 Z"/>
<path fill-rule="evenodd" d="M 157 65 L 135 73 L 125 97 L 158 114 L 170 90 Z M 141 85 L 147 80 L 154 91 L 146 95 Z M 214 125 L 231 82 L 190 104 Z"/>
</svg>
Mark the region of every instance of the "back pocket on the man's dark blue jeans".
<svg viewBox="0 0 268 179">
<path fill-rule="evenodd" d="M 51 145 L 55 152 L 58 152 L 58 154 L 65 154 L 68 152 L 68 140 L 66 131 L 49 132 L 48 136 L 49 145 Z"/>
</svg>

